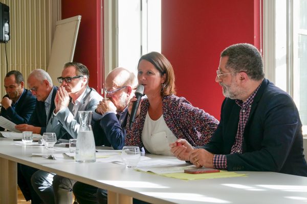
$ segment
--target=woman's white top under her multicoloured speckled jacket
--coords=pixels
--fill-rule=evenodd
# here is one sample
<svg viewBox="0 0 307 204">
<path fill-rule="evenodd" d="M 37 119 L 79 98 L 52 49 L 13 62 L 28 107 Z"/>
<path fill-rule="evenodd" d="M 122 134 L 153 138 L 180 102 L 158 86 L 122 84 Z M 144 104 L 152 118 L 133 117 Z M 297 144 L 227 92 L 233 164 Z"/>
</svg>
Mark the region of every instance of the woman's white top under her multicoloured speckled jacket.
<svg viewBox="0 0 307 204">
<path fill-rule="evenodd" d="M 174 156 L 170 152 L 168 144 L 176 140 L 177 137 L 169 130 L 163 115 L 158 120 L 152 120 L 147 112 L 142 132 L 142 142 L 151 154 Z"/>
</svg>

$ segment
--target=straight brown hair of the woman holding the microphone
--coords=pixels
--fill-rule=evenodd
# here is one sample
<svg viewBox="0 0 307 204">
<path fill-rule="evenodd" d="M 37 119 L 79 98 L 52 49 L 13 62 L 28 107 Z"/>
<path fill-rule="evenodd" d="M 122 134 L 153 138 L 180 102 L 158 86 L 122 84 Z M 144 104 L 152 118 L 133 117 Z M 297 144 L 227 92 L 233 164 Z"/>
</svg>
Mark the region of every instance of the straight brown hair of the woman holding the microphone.
<svg viewBox="0 0 307 204">
<path fill-rule="evenodd" d="M 138 63 L 138 66 L 142 60 L 146 60 L 153 64 L 156 69 L 160 72 L 161 76 L 166 75 L 165 82 L 161 87 L 161 96 L 167 96 L 171 94 L 176 94 L 175 91 L 175 74 L 170 62 L 166 57 L 157 52 L 151 52 L 146 55 L 143 55 Z"/>
</svg>

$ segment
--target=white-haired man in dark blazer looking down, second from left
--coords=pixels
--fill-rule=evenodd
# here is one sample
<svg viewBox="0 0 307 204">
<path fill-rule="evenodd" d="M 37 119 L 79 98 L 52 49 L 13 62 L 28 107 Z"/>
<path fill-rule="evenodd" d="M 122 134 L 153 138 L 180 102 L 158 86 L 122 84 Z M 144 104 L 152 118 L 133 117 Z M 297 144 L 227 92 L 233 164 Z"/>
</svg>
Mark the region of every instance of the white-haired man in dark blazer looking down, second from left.
<svg viewBox="0 0 307 204">
<path fill-rule="evenodd" d="M 55 109 L 54 98 L 58 90 L 53 86 L 50 75 L 42 69 L 33 70 L 27 80 L 28 87 L 32 94 L 36 96 L 36 105 L 34 112 L 28 124 L 16 125 L 19 131 L 32 131 L 33 133 L 43 134 L 46 132 L 48 120 L 51 118 L 52 110 Z M 31 203 L 42 203 L 31 185 L 31 176 L 38 169 L 17 164 L 17 183 L 23 192 L 26 200 Z"/>
</svg>

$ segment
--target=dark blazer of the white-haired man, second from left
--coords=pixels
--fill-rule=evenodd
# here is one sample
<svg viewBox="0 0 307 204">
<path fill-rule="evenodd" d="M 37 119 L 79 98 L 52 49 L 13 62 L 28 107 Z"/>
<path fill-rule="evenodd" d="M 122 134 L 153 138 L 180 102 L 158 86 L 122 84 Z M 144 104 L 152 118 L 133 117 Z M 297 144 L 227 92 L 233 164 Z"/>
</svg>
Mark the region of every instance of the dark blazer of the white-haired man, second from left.
<svg viewBox="0 0 307 204">
<path fill-rule="evenodd" d="M 51 105 L 50 105 L 50 111 L 48 115 L 48 120 L 50 119 L 52 115 L 52 111 L 55 109 L 54 105 L 54 98 L 57 92 L 57 87 L 53 86 L 53 92 L 52 92 L 52 98 L 51 98 Z M 36 100 L 36 106 L 34 109 L 34 112 L 32 114 L 32 117 L 30 118 L 29 124 L 37 127 L 41 127 L 40 134 L 46 132 L 46 126 L 47 126 L 47 115 L 46 115 L 46 109 L 45 109 L 45 101 L 38 101 Z"/>
</svg>

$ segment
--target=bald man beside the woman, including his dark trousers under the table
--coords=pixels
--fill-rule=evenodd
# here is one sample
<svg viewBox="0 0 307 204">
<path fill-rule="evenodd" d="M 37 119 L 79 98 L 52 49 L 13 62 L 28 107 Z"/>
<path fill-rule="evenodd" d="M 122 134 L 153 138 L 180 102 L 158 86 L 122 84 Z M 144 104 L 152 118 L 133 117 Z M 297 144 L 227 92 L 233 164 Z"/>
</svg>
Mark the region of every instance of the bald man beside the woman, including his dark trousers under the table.
<svg viewBox="0 0 307 204">
<path fill-rule="evenodd" d="M 134 73 L 118 67 L 105 79 L 105 99 L 100 101 L 93 118 L 100 121 L 105 136 L 114 149 L 125 146 L 128 103 L 135 94 L 138 81 Z M 76 182 L 73 187 L 78 203 L 106 203 L 106 190 Z"/>
</svg>

